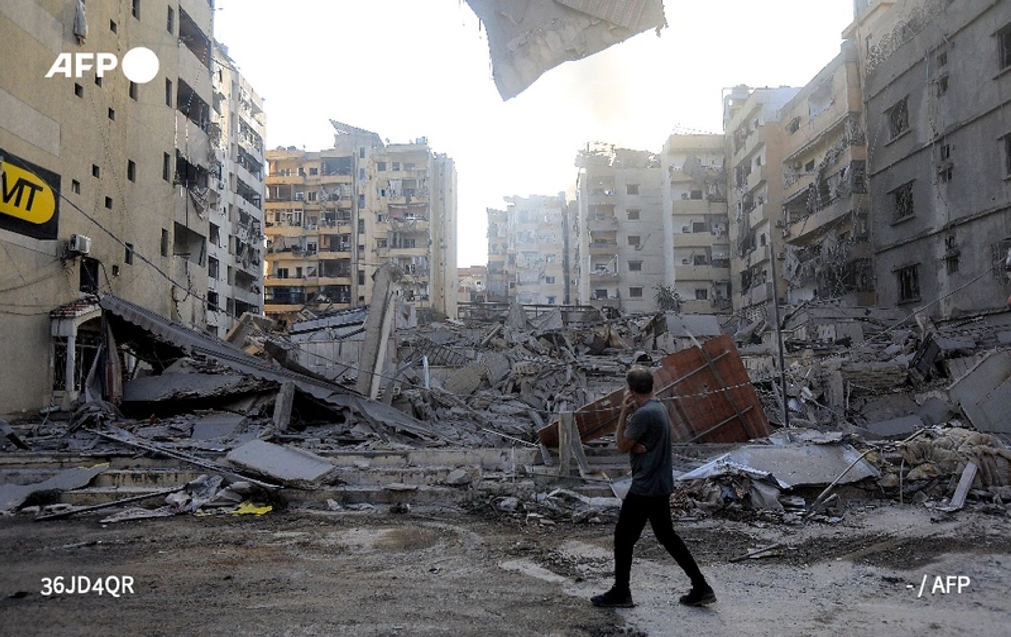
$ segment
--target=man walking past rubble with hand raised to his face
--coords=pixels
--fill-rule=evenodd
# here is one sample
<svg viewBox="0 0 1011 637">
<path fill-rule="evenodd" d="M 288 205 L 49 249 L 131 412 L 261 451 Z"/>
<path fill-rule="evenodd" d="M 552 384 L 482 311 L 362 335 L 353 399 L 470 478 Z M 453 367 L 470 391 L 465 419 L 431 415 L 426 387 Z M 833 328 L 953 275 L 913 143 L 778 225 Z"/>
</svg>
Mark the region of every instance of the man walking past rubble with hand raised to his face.
<svg viewBox="0 0 1011 637">
<path fill-rule="evenodd" d="M 593 606 L 629 608 L 632 590 L 632 549 L 649 521 L 656 540 L 667 549 L 692 580 L 692 589 L 681 604 L 703 606 L 716 602 L 713 588 L 699 570 L 692 553 L 670 523 L 670 493 L 674 490 L 670 453 L 670 421 L 667 410 L 653 395 L 653 374 L 633 367 L 626 376 L 629 388 L 622 402 L 615 439 L 618 450 L 629 453 L 632 487 L 615 527 L 615 585 L 593 596 Z M 629 415 L 632 417 L 629 418 Z"/>
</svg>

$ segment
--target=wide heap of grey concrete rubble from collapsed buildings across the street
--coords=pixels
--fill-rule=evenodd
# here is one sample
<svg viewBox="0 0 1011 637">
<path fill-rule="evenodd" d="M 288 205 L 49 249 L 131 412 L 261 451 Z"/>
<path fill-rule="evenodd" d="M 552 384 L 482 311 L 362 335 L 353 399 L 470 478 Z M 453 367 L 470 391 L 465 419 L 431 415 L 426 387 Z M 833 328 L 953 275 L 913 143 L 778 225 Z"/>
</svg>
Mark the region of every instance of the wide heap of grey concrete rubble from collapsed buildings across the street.
<svg viewBox="0 0 1011 637">
<path fill-rule="evenodd" d="M 853 498 L 946 514 L 1011 502 L 1011 326 L 996 320 L 903 327 L 896 312 L 811 303 L 784 318 L 780 374 L 764 320 L 513 304 L 419 325 L 389 303 L 289 326 L 247 315 L 222 341 L 100 303 L 105 338 L 78 400 L 0 422 L 17 467 L 0 511 L 63 492 L 85 505 L 72 512 L 118 503 L 110 521 L 264 513 L 301 492 L 332 510 L 472 502 L 526 524 L 610 521 L 628 465 L 608 436 L 634 364 L 654 370 L 670 414 L 682 520 L 837 523 Z M 17 464 L 42 456 L 89 466 Z M 171 490 L 126 488 L 140 459 Z"/>
</svg>

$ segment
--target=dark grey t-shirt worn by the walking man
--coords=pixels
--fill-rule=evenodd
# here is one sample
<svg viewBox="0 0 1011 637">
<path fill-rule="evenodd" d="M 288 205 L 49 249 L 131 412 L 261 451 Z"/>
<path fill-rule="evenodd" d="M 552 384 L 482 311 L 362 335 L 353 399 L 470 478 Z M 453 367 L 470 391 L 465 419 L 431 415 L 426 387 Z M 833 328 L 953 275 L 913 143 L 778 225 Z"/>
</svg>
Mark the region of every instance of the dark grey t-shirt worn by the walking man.
<svg viewBox="0 0 1011 637">
<path fill-rule="evenodd" d="M 625 425 L 625 438 L 646 448 L 646 453 L 629 452 L 632 461 L 629 492 L 647 497 L 670 495 L 674 490 L 674 476 L 670 419 L 666 407 L 655 398 L 644 402 Z"/>
</svg>

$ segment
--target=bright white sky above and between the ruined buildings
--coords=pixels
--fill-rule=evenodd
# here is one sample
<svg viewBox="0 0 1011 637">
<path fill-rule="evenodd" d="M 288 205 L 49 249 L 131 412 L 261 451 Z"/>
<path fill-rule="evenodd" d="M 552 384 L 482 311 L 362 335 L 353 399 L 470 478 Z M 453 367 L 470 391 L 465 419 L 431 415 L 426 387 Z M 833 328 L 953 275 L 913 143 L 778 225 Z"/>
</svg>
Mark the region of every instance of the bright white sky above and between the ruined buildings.
<svg viewBox="0 0 1011 637">
<path fill-rule="evenodd" d="M 721 132 L 723 89 L 804 86 L 838 55 L 852 7 L 665 0 L 659 37 L 564 63 L 508 101 L 463 0 L 217 0 L 214 33 L 265 98 L 268 149 L 331 148 L 337 119 L 452 157 L 467 267 L 487 261 L 485 208 L 571 198 L 587 142 L 659 151 L 671 132 Z"/>
</svg>

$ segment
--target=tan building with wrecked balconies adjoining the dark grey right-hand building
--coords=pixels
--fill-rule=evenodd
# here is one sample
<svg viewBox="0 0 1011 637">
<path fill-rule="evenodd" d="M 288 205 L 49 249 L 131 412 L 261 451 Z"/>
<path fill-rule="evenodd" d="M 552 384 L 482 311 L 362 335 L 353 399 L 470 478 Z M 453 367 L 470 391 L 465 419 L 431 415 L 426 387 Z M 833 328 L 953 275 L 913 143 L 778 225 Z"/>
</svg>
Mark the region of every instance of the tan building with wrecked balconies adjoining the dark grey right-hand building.
<svg viewBox="0 0 1011 637">
<path fill-rule="evenodd" d="M 791 303 L 874 304 L 866 135 L 852 40 L 783 107 L 785 259 Z"/>
</svg>

